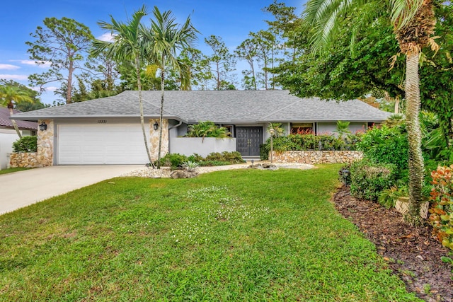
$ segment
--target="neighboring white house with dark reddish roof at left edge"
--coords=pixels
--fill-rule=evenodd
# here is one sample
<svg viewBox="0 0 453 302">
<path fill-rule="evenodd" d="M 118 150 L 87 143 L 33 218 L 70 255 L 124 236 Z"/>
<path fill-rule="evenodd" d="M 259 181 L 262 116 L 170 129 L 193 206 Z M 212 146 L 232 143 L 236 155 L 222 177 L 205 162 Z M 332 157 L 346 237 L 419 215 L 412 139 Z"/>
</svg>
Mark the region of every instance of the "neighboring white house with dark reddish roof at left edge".
<svg viewBox="0 0 453 302">
<path fill-rule="evenodd" d="M 14 114 L 20 113 L 18 110 L 13 110 Z M 36 135 L 36 122 L 17 121 L 17 125 L 21 134 Z M 9 119 L 9 109 L 0 107 L 0 170 L 8 167 L 8 153 L 13 152 L 13 142 L 19 139 L 13 124 Z"/>
</svg>

